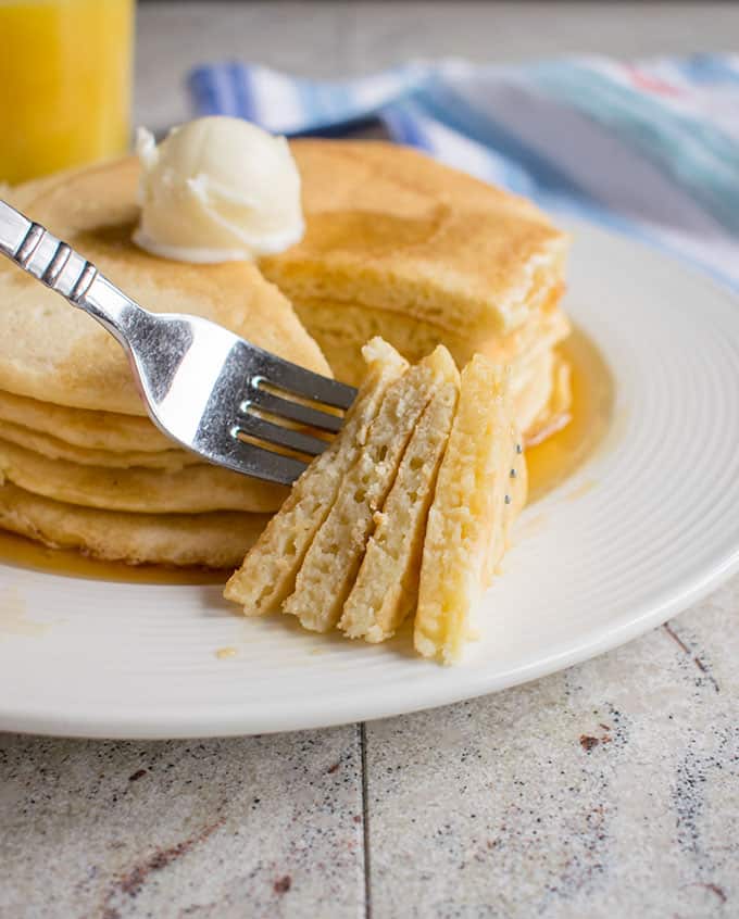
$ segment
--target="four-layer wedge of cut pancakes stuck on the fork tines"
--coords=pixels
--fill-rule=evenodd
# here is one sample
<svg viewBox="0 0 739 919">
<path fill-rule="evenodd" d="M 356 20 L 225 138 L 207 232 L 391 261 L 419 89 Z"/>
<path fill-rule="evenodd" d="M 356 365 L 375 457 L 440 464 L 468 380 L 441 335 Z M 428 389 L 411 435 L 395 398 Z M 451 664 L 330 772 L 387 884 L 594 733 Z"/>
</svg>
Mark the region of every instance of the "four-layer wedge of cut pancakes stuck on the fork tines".
<svg viewBox="0 0 739 919">
<path fill-rule="evenodd" d="M 224 596 L 310 630 L 381 642 L 413 618 L 425 657 L 460 658 L 526 501 L 505 370 L 409 366 L 381 339 L 341 431 L 293 484 Z"/>
</svg>

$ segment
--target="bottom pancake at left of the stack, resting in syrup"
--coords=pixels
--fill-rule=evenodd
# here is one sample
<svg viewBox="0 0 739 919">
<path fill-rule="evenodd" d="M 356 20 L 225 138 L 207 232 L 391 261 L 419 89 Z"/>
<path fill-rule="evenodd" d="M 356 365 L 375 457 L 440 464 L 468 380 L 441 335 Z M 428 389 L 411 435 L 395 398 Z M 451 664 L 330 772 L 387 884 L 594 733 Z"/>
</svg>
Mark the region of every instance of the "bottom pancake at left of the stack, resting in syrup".
<svg viewBox="0 0 739 919">
<path fill-rule="evenodd" d="M 230 568 L 267 524 L 263 514 L 125 514 L 75 507 L 0 486 L 0 528 L 54 549 L 131 565 Z"/>
</svg>

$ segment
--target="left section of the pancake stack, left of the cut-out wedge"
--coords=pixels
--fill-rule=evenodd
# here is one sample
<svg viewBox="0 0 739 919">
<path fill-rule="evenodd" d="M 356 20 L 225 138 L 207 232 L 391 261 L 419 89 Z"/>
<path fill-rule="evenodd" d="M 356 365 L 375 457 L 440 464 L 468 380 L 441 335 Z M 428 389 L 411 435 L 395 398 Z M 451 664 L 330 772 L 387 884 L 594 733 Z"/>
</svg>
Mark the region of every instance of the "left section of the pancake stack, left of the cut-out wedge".
<svg viewBox="0 0 739 919">
<path fill-rule="evenodd" d="M 22 186 L 11 201 L 155 312 L 213 319 L 330 374 L 285 297 L 249 263 L 196 266 L 130 242 L 136 161 Z M 146 416 L 93 319 L 0 265 L 0 526 L 108 559 L 237 565 L 287 489 L 200 462 Z"/>
</svg>

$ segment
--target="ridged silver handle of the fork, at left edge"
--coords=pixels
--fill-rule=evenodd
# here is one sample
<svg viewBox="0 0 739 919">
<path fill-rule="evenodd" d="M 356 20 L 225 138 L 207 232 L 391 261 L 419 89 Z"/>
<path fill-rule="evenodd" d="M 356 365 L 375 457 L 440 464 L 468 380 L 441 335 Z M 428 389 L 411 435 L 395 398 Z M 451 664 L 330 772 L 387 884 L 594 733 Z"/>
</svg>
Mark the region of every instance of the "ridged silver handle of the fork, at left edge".
<svg viewBox="0 0 739 919">
<path fill-rule="evenodd" d="M 0 252 L 105 326 L 128 349 L 131 322 L 146 311 L 66 242 L 2 200 Z"/>
</svg>

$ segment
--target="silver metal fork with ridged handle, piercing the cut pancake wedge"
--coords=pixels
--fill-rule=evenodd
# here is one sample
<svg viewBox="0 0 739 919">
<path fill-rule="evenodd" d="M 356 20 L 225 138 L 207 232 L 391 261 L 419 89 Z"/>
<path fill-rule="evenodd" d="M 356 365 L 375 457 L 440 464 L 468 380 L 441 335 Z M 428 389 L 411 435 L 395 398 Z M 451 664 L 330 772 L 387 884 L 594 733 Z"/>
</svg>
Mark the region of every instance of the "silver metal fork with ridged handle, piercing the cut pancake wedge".
<svg viewBox="0 0 739 919">
<path fill-rule="evenodd" d="M 290 484 L 328 445 L 325 435 L 341 427 L 342 414 L 326 406 L 346 411 L 356 395 L 353 387 L 284 361 L 208 319 L 150 313 L 2 200 L 0 252 L 117 339 L 152 421 L 210 463 Z"/>
</svg>

